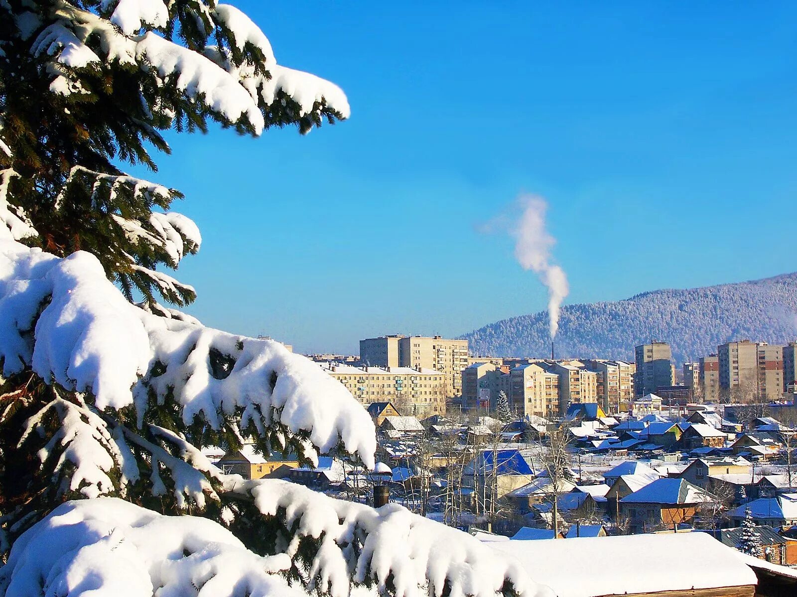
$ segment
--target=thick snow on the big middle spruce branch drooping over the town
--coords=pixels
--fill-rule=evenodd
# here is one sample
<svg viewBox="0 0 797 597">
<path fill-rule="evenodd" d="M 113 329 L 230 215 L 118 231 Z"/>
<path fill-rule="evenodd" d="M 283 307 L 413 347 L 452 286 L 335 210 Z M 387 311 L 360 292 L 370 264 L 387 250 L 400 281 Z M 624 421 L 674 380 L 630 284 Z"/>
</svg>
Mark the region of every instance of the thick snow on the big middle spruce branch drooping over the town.
<svg viewBox="0 0 797 597">
<path fill-rule="evenodd" d="M 0 364 L 6 376 L 31 367 L 48 383 L 87 392 L 100 410 L 135 405 L 139 424 L 151 400 L 173 396 L 186 425 L 198 419 L 218 430 L 240 416 L 242 429 L 306 436 L 321 452 L 342 442 L 374 464 L 367 412 L 312 361 L 279 342 L 148 313 L 125 300 L 96 257 L 25 247 L 6 226 Z"/>
</svg>

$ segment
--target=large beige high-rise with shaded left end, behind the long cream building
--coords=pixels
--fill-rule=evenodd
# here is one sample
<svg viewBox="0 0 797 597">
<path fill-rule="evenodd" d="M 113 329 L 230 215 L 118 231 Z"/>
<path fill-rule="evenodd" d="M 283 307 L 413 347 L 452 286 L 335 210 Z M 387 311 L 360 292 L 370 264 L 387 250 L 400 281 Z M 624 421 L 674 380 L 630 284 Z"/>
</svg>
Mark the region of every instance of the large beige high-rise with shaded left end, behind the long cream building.
<svg viewBox="0 0 797 597">
<path fill-rule="evenodd" d="M 446 376 L 446 397 L 461 396 L 461 373 L 469 365 L 468 341 L 440 336 L 383 336 L 359 341 L 363 365 L 434 369 Z"/>
</svg>

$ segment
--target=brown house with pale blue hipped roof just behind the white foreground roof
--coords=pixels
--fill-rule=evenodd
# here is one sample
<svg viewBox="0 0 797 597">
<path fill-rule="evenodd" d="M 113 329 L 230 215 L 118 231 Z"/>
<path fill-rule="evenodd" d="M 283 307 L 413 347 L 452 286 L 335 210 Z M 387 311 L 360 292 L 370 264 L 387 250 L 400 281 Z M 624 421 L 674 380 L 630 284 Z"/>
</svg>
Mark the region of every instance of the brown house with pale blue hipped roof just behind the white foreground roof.
<svg viewBox="0 0 797 597">
<path fill-rule="evenodd" d="M 701 505 L 717 498 L 685 479 L 663 478 L 620 500 L 620 516 L 632 533 L 677 529 L 689 524 Z"/>
</svg>

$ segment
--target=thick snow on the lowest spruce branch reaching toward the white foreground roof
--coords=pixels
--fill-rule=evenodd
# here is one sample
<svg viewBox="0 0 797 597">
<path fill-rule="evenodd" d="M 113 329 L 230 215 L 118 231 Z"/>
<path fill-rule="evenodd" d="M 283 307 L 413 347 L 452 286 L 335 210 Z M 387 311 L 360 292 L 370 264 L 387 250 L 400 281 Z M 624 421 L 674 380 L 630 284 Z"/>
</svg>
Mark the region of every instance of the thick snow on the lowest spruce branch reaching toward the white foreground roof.
<svg viewBox="0 0 797 597">
<path fill-rule="evenodd" d="M 284 513 L 285 526 L 297 529 L 285 547 L 292 560 L 301 540 L 320 541 L 305 572 L 320 579 L 311 589 L 332 597 L 346 597 L 350 579 L 396 597 L 494 597 L 505 590 L 549 595 L 514 560 L 400 505 L 373 509 L 280 479 L 246 481 L 238 475 L 226 476 L 225 489 L 253 497 L 265 516 Z"/>
</svg>

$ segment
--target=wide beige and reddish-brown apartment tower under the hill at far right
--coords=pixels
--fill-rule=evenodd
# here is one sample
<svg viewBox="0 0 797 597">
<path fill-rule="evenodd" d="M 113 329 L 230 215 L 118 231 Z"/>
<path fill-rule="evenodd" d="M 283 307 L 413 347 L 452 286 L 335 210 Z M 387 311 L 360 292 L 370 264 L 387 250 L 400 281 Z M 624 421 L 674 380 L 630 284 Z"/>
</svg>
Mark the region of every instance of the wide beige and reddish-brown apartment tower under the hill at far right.
<svg viewBox="0 0 797 597">
<path fill-rule="evenodd" d="M 783 394 L 783 348 L 741 340 L 717 346 L 720 396 L 730 402 L 777 400 Z"/>
</svg>

